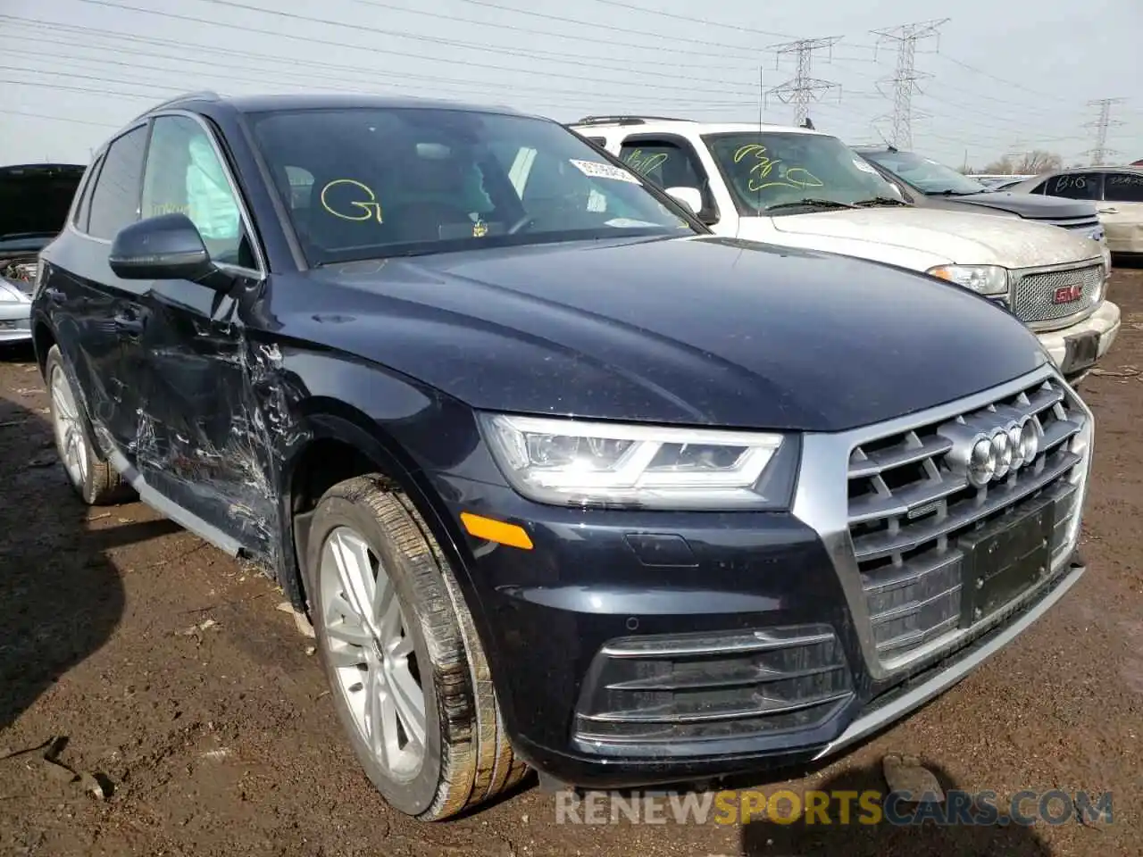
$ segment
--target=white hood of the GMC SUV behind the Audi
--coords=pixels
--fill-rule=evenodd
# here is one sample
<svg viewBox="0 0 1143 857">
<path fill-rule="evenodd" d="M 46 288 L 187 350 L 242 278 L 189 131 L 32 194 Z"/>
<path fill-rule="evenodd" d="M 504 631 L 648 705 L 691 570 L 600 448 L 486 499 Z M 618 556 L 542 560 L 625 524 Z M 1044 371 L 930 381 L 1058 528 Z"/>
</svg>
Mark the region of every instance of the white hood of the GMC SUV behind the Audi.
<svg viewBox="0 0 1143 857">
<path fill-rule="evenodd" d="M 815 211 L 775 217 L 773 222 L 780 234 L 826 239 L 817 245 L 823 250 L 831 249 L 828 239 L 866 242 L 871 258 L 879 258 L 878 245 L 927 253 L 942 259 L 933 264 L 1004 267 L 1055 265 L 1101 254 L 1095 241 L 1056 226 L 981 217 L 972 211 L 910 206 Z"/>
</svg>

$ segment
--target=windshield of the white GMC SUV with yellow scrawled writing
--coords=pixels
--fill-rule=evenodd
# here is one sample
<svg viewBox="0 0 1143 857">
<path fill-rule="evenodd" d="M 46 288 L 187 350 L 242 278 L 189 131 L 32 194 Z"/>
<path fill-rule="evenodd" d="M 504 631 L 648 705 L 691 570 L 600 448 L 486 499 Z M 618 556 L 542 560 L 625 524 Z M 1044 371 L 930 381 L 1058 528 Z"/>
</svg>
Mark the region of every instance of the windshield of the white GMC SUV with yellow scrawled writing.
<svg viewBox="0 0 1143 857">
<path fill-rule="evenodd" d="M 742 133 L 704 136 L 744 216 L 801 214 L 794 203 L 901 200 L 897 190 L 837 137 Z M 840 207 L 840 206 L 839 206 Z"/>
</svg>

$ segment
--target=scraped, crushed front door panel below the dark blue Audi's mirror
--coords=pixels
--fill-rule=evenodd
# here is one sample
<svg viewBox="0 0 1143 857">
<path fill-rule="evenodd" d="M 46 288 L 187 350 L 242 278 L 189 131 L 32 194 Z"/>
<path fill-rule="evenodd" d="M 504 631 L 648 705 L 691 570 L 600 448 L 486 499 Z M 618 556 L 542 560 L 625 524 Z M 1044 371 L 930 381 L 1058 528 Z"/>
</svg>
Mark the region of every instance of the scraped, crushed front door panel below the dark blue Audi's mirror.
<svg viewBox="0 0 1143 857">
<path fill-rule="evenodd" d="M 275 579 L 282 556 L 281 462 L 302 440 L 291 416 L 299 395 L 275 344 L 251 342 L 243 302 L 189 282 L 155 282 L 139 301 L 134 436 L 123 450 L 170 502 L 238 545 Z"/>
</svg>

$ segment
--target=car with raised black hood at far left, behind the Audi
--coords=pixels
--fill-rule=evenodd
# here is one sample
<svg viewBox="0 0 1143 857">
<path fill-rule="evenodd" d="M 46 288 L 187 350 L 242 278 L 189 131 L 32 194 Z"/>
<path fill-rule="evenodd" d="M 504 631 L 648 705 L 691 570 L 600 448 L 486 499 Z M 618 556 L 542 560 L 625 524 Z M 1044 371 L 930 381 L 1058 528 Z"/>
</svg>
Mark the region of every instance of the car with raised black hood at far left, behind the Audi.
<svg viewBox="0 0 1143 857">
<path fill-rule="evenodd" d="M 85 169 L 74 163 L 0 167 L 0 346 L 32 341 L 37 257 L 63 230 Z"/>
</svg>

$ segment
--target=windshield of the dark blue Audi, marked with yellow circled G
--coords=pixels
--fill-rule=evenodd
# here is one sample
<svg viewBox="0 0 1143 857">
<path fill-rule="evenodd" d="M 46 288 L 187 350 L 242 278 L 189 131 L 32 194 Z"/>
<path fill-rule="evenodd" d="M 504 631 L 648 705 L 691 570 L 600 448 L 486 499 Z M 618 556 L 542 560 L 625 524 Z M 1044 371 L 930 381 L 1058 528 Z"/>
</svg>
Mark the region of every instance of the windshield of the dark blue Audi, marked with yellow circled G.
<svg viewBox="0 0 1143 857">
<path fill-rule="evenodd" d="M 251 120 L 311 265 L 695 232 L 555 122 L 421 107 Z"/>
</svg>

